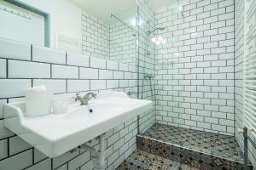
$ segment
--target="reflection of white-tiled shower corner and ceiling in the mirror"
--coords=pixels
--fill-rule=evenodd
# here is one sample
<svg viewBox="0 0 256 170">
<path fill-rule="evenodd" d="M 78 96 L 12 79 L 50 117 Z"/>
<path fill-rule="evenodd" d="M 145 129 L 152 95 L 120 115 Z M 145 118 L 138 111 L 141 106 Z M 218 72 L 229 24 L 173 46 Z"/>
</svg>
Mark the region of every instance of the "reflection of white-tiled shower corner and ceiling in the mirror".
<svg viewBox="0 0 256 170">
<path fill-rule="evenodd" d="M 70 0 L 82 8 L 82 53 L 135 65 L 135 0 Z"/>
</svg>

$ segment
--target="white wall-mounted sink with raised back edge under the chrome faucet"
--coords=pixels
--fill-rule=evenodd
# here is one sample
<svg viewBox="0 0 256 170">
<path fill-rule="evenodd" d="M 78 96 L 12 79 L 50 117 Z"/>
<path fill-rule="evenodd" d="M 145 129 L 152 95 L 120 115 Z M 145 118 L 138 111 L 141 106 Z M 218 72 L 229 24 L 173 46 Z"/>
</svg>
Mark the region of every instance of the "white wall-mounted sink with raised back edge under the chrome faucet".
<svg viewBox="0 0 256 170">
<path fill-rule="evenodd" d="M 124 93 L 98 96 L 89 105 L 68 105 L 66 113 L 37 117 L 24 116 L 25 103 L 7 104 L 3 107 L 4 125 L 52 158 L 153 108 L 152 101 L 130 99 Z"/>
</svg>

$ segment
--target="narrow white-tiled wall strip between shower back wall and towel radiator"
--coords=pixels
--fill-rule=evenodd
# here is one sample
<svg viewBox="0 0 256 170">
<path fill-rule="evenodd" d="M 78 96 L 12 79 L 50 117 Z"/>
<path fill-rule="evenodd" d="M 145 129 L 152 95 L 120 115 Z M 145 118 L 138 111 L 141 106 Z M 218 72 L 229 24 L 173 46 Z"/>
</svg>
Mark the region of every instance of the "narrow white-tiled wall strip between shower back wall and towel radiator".
<svg viewBox="0 0 256 170">
<path fill-rule="evenodd" d="M 235 1 L 235 135 L 243 148 L 243 137 L 237 130 L 243 127 L 243 54 L 245 3 Z M 256 165 L 256 150 L 249 144 L 249 158 Z"/>
</svg>

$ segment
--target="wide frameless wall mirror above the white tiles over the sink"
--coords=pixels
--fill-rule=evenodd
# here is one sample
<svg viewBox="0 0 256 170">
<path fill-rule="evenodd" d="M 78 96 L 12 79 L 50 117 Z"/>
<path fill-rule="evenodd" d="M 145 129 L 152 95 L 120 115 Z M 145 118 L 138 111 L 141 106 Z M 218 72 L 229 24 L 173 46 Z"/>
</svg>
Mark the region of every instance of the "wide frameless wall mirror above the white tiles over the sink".
<svg viewBox="0 0 256 170">
<path fill-rule="evenodd" d="M 135 65 L 136 15 L 135 0 L 0 0 L 0 37 Z"/>
</svg>

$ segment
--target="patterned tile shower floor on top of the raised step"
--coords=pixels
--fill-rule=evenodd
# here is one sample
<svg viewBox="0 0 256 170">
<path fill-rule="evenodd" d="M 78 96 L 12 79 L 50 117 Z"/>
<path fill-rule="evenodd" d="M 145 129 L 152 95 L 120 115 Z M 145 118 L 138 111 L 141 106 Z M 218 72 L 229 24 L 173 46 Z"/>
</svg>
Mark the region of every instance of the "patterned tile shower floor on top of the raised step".
<svg viewBox="0 0 256 170">
<path fill-rule="evenodd" d="M 176 144 L 183 148 L 243 162 L 243 154 L 235 137 L 155 123 L 140 134 L 150 139 Z"/>
</svg>

